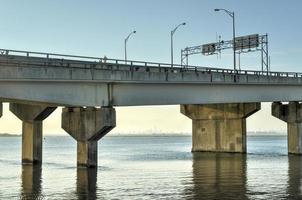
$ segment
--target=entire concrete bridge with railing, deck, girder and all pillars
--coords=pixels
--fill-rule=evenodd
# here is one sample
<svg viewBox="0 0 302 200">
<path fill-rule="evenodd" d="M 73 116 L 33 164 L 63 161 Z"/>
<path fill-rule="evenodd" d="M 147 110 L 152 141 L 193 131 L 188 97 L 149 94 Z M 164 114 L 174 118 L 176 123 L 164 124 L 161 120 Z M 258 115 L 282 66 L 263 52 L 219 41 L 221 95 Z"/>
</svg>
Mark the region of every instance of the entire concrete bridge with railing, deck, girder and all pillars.
<svg viewBox="0 0 302 200">
<path fill-rule="evenodd" d="M 115 106 L 179 104 L 192 119 L 192 151 L 245 153 L 246 118 L 274 102 L 273 116 L 288 124 L 288 152 L 302 154 L 302 73 L 0 52 L 0 101 L 23 122 L 23 163 L 42 162 L 42 122 L 58 106 L 82 166 L 97 165 L 97 141 L 116 126 Z"/>
</svg>

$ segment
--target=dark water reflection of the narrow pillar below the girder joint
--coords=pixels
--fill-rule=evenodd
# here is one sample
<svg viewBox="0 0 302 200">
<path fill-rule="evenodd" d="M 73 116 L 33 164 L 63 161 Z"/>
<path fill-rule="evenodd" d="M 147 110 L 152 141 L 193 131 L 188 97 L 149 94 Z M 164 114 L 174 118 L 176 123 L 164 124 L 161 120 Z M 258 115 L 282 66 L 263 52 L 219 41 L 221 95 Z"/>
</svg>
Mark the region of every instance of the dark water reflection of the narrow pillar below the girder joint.
<svg viewBox="0 0 302 200">
<path fill-rule="evenodd" d="M 78 199 L 96 199 L 97 168 L 77 168 Z"/>
</svg>

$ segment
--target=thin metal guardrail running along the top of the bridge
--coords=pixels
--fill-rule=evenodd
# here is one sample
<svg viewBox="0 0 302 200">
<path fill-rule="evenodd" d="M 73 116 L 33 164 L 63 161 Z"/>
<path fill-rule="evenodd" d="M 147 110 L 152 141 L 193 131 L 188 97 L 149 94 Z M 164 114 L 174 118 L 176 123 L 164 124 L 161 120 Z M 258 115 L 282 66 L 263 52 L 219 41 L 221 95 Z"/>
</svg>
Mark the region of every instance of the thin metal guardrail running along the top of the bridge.
<svg viewBox="0 0 302 200">
<path fill-rule="evenodd" d="M 192 66 L 192 65 L 179 65 L 168 63 L 156 63 L 156 62 L 145 62 L 145 61 L 134 61 L 134 60 L 120 60 L 120 59 L 109 59 L 109 58 L 99 58 L 91 56 L 77 56 L 68 54 L 56 54 L 56 53 L 43 53 L 34 51 L 21 51 L 12 49 L 0 49 L 0 56 L 22 56 L 22 57 L 32 57 L 46 59 L 47 61 L 59 61 L 62 65 L 70 66 L 71 64 L 79 64 L 80 62 L 85 62 L 85 64 L 111 64 L 117 66 L 130 66 L 130 67 L 146 67 L 146 68 L 165 68 L 168 70 L 177 70 L 180 72 L 186 71 L 196 71 L 196 72 L 218 72 L 218 73 L 228 73 L 235 75 L 262 75 L 262 76 L 278 76 L 278 77 L 302 77 L 302 73 L 298 72 L 273 72 L 273 71 L 257 71 L 257 70 L 232 70 L 224 68 L 212 68 L 203 66 Z"/>
</svg>

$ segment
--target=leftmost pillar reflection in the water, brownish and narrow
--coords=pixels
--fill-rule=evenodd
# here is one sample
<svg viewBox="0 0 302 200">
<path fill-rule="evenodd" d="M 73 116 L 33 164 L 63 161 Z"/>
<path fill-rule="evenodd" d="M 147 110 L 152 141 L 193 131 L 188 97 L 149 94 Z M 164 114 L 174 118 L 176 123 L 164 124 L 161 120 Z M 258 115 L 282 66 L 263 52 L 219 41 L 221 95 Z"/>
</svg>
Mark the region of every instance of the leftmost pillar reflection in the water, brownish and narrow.
<svg viewBox="0 0 302 200">
<path fill-rule="evenodd" d="M 42 199 L 41 165 L 22 165 L 21 197 L 22 199 Z"/>
</svg>

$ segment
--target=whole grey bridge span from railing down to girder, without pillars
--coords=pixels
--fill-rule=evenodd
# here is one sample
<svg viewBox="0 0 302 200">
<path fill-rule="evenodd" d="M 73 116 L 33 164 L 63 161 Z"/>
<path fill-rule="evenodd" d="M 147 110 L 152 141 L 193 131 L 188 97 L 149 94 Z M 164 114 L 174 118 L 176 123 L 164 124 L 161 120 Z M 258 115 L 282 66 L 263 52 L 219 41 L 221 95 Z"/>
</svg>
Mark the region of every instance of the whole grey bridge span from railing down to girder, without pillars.
<svg viewBox="0 0 302 200">
<path fill-rule="evenodd" d="M 0 49 L 0 98 L 70 106 L 300 101 L 302 74 Z"/>
</svg>

